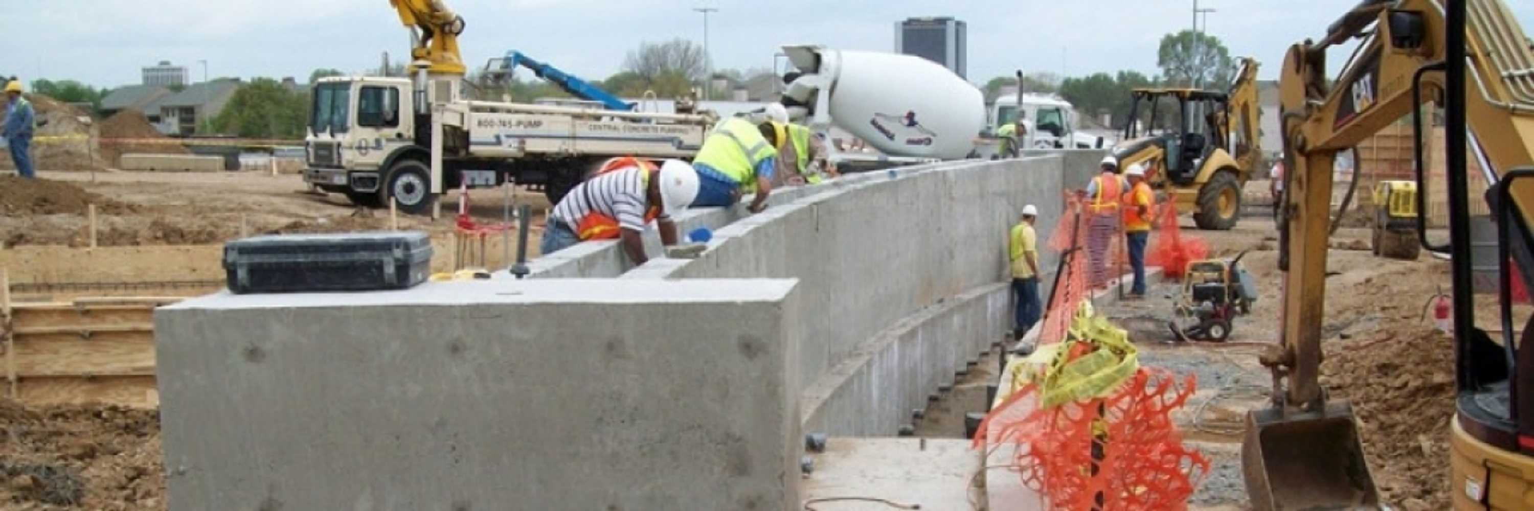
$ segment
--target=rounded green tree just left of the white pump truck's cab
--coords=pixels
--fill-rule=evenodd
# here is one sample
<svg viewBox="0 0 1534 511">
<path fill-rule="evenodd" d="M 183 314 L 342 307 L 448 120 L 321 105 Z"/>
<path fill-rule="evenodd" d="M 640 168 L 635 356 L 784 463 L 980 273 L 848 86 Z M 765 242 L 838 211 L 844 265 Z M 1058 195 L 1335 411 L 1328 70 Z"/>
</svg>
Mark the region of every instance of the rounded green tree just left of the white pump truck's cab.
<svg viewBox="0 0 1534 511">
<path fill-rule="evenodd" d="M 302 138 L 307 114 L 304 94 L 291 92 L 272 78 L 255 78 L 235 91 L 210 127 L 245 138 Z"/>
</svg>

